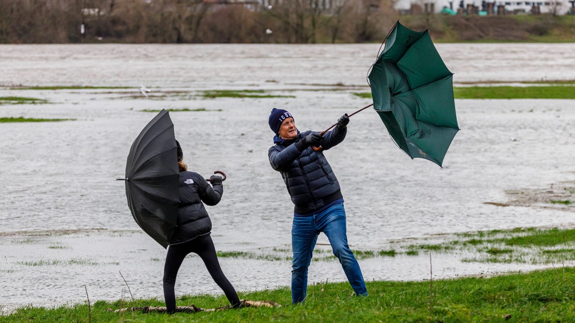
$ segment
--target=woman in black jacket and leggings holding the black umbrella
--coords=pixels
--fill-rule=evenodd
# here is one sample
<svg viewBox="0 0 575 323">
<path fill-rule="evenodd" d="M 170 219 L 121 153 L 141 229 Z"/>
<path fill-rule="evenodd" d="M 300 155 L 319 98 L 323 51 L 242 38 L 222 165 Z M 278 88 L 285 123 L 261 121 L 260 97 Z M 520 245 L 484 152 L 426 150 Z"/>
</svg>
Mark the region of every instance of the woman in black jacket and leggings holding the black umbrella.
<svg viewBox="0 0 575 323">
<path fill-rule="evenodd" d="M 184 257 L 190 252 L 197 253 L 204 260 L 208 272 L 214 281 L 224 291 L 231 305 L 236 308 L 240 306 L 240 299 L 236 290 L 224 273 L 221 271 L 220 263 L 217 260 L 216 248 L 214 247 L 210 231 L 212 221 L 208 212 L 204 208 L 207 205 L 216 205 L 220 202 L 224 193 L 222 178 L 212 175 L 210 181 L 212 187 L 199 174 L 187 171 L 186 164 L 183 163 L 183 152 L 178 141 L 178 167 L 179 167 L 179 200 L 178 207 L 178 228 L 175 230 L 173 243 L 168 248 L 166 264 L 164 266 L 164 299 L 166 300 L 166 310 L 174 313 L 176 309 L 176 298 L 174 284 L 179 267 Z"/>
</svg>

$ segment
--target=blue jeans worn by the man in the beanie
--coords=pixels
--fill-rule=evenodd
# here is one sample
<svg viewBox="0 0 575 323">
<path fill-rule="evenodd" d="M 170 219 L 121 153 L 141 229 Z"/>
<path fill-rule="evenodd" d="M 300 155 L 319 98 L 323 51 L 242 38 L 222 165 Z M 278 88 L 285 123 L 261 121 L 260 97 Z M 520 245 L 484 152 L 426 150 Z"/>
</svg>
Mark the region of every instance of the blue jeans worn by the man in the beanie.
<svg viewBox="0 0 575 323">
<path fill-rule="evenodd" d="M 317 236 L 325 233 L 333 255 L 338 257 L 355 294 L 367 296 L 367 289 L 358 261 L 347 245 L 346 210 L 337 203 L 324 212 L 306 217 L 294 217 L 292 225 L 292 302 L 305 301 L 308 291 L 308 267 L 312 260 Z"/>
</svg>

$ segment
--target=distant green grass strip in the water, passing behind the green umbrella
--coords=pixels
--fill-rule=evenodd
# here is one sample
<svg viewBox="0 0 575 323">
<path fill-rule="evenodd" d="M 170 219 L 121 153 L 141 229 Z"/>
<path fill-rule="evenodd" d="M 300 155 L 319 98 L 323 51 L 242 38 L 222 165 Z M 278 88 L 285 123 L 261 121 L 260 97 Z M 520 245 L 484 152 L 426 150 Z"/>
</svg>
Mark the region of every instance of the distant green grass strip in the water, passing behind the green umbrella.
<svg viewBox="0 0 575 323">
<path fill-rule="evenodd" d="M 353 93 L 371 98 L 371 93 Z M 470 86 L 454 87 L 456 99 L 575 99 L 573 86 Z"/>
</svg>

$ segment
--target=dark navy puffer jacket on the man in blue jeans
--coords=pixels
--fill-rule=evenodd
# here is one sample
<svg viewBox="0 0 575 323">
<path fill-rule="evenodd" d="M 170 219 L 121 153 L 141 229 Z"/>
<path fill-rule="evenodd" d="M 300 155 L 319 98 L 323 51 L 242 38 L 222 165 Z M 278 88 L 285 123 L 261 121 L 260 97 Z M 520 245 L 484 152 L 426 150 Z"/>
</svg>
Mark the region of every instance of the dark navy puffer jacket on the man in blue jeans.
<svg viewBox="0 0 575 323">
<path fill-rule="evenodd" d="M 323 147 L 321 151 L 298 144 L 313 131 L 301 132 L 295 139 L 283 140 L 268 151 L 271 167 L 282 174 L 295 213 L 310 213 L 342 198 L 338 179 L 323 151 L 341 143 L 346 137 L 346 128 L 336 126 L 327 132 L 319 143 Z"/>
</svg>

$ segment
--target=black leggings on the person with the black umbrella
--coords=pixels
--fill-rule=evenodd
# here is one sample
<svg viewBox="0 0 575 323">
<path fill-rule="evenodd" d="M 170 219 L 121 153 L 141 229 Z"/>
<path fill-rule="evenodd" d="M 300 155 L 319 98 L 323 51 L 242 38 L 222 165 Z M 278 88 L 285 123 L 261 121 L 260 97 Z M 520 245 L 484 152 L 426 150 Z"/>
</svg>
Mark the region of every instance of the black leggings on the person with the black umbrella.
<svg viewBox="0 0 575 323">
<path fill-rule="evenodd" d="M 176 309 L 176 297 L 174 292 L 174 284 L 176 282 L 176 275 L 178 275 L 179 267 L 182 265 L 183 259 L 190 253 L 197 253 L 198 256 L 204 260 L 208 272 L 218 286 L 224 291 L 225 297 L 233 307 L 240 306 L 240 299 L 237 297 L 236 290 L 233 289 L 232 284 L 225 278 L 224 272 L 221 271 L 220 263 L 217 260 L 216 248 L 212 241 L 212 237 L 203 236 L 197 237 L 187 243 L 170 245 L 168 248 L 168 255 L 166 256 L 166 264 L 164 265 L 164 299 L 166 300 L 166 310 L 168 313 L 174 313 Z"/>
</svg>

